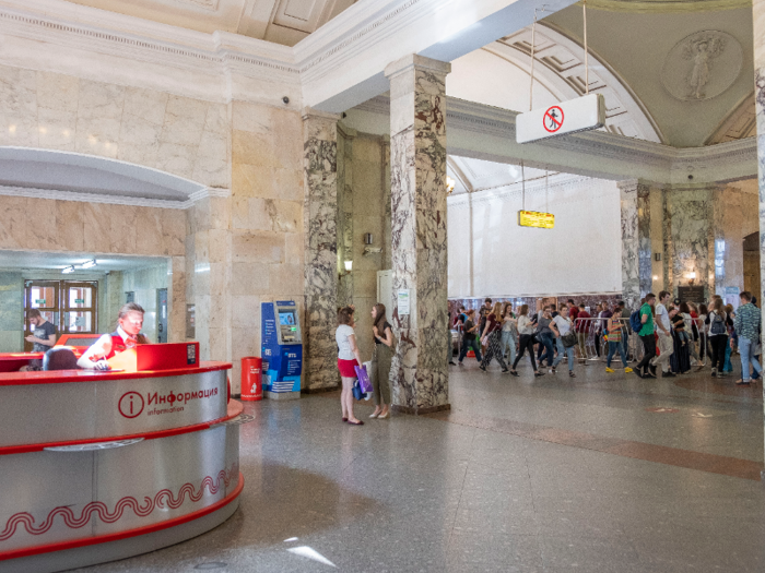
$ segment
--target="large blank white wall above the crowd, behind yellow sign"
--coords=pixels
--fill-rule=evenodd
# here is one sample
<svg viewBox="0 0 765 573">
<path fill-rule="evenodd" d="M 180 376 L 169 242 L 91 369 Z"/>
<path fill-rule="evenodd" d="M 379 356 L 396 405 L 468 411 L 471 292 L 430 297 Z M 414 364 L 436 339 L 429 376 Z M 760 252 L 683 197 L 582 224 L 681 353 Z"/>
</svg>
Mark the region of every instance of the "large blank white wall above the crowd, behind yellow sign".
<svg viewBox="0 0 765 573">
<path fill-rule="evenodd" d="M 449 297 L 569 295 L 622 289 L 615 181 L 569 175 L 526 186 L 526 210 L 554 229 L 518 226 L 520 184 L 448 199 Z M 472 287 L 470 273 L 472 210 Z"/>
</svg>

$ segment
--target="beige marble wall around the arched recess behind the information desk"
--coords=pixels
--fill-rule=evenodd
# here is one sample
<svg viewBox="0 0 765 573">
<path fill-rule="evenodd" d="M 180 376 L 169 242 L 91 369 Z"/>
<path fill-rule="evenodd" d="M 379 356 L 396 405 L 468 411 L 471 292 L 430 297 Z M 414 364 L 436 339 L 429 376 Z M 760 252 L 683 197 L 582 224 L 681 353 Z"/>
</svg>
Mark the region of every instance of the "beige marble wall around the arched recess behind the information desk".
<svg viewBox="0 0 765 573">
<path fill-rule="evenodd" d="M 195 305 L 202 358 L 232 361 L 236 392 L 240 358 L 260 355 L 260 303 L 305 302 L 303 124 L 279 105 L 0 65 L 0 145 L 116 158 L 211 190 L 186 211 L 0 196 L 0 249 L 167 258 L 170 341 L 185 339 Z M 111 310 L 125 280 L 107 279 Z"/>
</svg>

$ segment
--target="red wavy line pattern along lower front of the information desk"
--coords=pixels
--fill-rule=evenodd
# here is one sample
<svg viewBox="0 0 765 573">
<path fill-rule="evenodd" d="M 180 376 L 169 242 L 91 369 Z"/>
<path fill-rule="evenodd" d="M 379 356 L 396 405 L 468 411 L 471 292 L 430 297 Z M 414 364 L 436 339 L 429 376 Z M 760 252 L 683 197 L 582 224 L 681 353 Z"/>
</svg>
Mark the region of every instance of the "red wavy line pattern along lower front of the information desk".
<svg viewBox="0 0 765 573">
<path fill-rule="evenodd" d="M 238 475 L 239 465 L 233 464 L 228 471 L 225 469 L 219 471 L 217 479 L 214 479 L 211 476 L 207 476 L 204 479 L 202 479 L 199 492 L 197 492 L 196 488 L 191 484 L 184 484 L 178 490 L 177 498 L 173 496 L 170 490 L 163 489 L 157 491 L 153 499 L 149 497 L 143 498 L 143 505 L 141 505 L 136 498 L 126 497 L 117 502 L 114 512 L 109 512 L 109 509 L 103 501 L 92 501 L 83 508 L 79 518 L 74 516 L 74 512 L 72 512 L 70 508 L 55 508 L 50 513 L 48 513 L 47 517 L 39 524 L 39 526 L 35 526 L 35 518 L 31 513 L 15 513 L 9 517 L 8 522 L 5 522 L 5 528 L 0 533 L 0 541 L 5 541 L 13 537 L 20 525 L 22 525 L 32 535 L 43 535 L 52 527 L 54 520 L 57 515 L 61 515 L 67 527 L 78 529 L 91 523 L 91 516 L 94 513 L 97 513 L 98 517 L 104 523 L 115 523 L 122 516 L 125 510 L 128 508 L 130 508 L 139 517 L 148 516 L 154 511 L 155 508 L 165 509 L 167 506 L 173 510 L 177 510 L 184 503 L 186 496 L 188 496 L 193 502 L 202 499 L 204 489 L 208 489 L 210 493 L 214 496 L 221 489 L 221 480 L 226 487 L 228 487 L 232 476 Z M 167 505 L 165 505 L 165 503 Z"/>
</svg>

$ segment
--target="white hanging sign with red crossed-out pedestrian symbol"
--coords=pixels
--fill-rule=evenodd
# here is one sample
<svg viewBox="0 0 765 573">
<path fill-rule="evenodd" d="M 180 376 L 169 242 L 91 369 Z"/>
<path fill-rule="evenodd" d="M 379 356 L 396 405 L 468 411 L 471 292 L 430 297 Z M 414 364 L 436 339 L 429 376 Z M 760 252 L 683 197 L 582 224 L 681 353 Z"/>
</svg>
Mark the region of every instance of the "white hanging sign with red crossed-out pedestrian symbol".
<svg viewBox="0 0 765 573">
<path fill-rule="evenodd" d="M 590 94 L 516 117 L 516 141 L 529 143 L 604 124 L 605 100 L 602 94 Z"/>
</svg>

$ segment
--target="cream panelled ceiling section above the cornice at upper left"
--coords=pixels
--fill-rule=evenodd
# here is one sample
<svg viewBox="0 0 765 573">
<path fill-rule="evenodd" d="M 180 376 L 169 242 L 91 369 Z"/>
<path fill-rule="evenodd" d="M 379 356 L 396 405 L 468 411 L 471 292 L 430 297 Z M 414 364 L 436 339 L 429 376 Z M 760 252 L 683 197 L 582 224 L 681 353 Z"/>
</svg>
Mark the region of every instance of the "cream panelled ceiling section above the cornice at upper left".
<svg viewBox="0 0 765 573">
<path fill-rule="evenodd" d="M 356 0 L 69 0 L 198 32 L 294 46 Z"/>
</svg>

